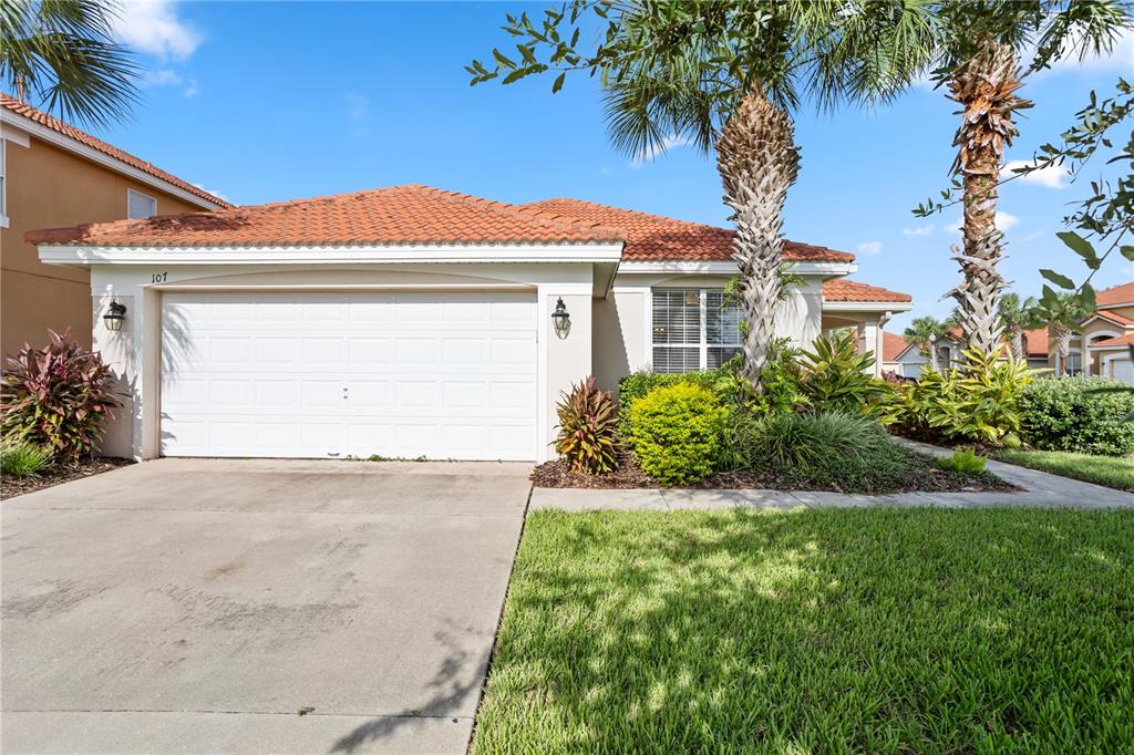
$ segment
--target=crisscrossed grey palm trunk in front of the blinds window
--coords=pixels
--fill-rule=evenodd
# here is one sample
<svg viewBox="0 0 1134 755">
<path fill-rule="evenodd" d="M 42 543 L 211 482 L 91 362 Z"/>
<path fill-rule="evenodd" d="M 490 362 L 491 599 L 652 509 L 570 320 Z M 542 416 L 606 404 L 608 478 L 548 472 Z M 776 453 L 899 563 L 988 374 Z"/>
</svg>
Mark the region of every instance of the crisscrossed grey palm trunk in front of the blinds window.
<svg viewBox="0 0 1134 755">
<path fill-rule="evenodd" d="M 762 93 L 750 93 L 717 141 L 717 170 L 736 222 L 733 258 L 748 325 L 744 375 L 763 392 L 760 375 L 768 366 L 781 288 L 784 202 L 799 170 L 792 118 Z"/>
</svg>

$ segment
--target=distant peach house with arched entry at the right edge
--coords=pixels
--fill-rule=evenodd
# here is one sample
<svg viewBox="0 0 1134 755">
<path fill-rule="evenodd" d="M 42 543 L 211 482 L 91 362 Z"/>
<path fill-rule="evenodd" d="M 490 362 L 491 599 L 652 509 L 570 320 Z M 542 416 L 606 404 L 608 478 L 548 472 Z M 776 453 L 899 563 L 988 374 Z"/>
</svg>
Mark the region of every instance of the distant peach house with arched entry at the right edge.
<svg viewBox="0 0 1134 755">
<path fill-rule="evenodd" d="M 1060 371 L 1055 339 L 1051 339 L 1051 368 L 1072 375 L 1102 375 L 1134 384 L 1134 282 L 1114 286 L 1095 294 L 1097 309 L 1080 323 L 1081 334 L 1070 340 L 1065 370 Z"/>
</svg>

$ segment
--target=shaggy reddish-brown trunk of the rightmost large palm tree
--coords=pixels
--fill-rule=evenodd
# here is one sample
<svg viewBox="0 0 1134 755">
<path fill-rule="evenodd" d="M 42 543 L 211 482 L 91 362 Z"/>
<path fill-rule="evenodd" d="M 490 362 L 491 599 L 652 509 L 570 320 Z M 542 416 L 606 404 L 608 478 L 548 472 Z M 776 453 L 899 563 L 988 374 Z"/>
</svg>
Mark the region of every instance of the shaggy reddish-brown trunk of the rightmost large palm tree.
<svg viewBox="0 0 1134 755">
<path fill-rule="evenodd" d="M 963 107 L 953 169 L 964 184 L 964 249 L 954 247 L 963 279 L 949 295 L 957 300 L 966 345 L 985 354 L 999 348 L 1004 331 L 997 316 L 1006 285 L 997 270 L 1004 254 L 1004 234 L 996 226 L 997 183 L 1005 147 L 1019 133 L 1015 111 L 1031 107 L 1016 96 L 1021 86 L 1016 51 L 993 37 L 949 82 L 950 97 Z"/>
</svg>

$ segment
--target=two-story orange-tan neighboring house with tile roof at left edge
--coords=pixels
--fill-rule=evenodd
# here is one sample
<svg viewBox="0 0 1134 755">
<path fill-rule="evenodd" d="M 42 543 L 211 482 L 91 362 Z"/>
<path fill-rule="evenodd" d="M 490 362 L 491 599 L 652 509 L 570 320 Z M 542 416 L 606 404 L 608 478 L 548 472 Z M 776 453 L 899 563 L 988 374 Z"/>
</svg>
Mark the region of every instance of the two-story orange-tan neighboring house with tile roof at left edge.
<svg viewBox="0 0 1134 755">
<path fill-rule="evenodd" d="M 230 206 L 51 116 L 0 93 L 0 354 L 70 328 L 91 347 L 91 275 L 40 262 L 36 228 Z"/>
</svg>

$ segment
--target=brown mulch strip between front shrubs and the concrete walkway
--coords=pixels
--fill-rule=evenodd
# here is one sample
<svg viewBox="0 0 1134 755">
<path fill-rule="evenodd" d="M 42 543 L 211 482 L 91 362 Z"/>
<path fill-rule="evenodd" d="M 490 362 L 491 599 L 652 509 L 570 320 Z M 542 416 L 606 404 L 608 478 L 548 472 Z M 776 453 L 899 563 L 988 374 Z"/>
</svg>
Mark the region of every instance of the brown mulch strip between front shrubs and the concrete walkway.
<svg viewBox="0 0 1134 755">
<path fill-rule="evenodd" d="M 869 489 L 844 490 L 829 481 L 801 480 L 798 475 L 784 478 L 775 474 L 753 472 L 720 472 L 701 482 L 682 485 L 686 490 L 741 489 L 741 490 L 806 490 L 831 491 L 836 493 L 983 493 L 1010 492 L 1019 490 L 996 475 L 963 474 L 946 470 L 937 460 L 924 453 L 907 453 L 908 467 L 900 480 L 874 481 Z M 547 461 L 532 470 L 532 484 L 536 487 L 592 487 L 592 489 L 637 489 L 663 487 L 657 480 L 643 472 L 631 455 L 624 455 L 617 469 L 604 475 L 587 475 L 570 472 L 562 460 Z"/>
</svg>

